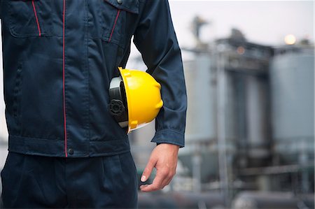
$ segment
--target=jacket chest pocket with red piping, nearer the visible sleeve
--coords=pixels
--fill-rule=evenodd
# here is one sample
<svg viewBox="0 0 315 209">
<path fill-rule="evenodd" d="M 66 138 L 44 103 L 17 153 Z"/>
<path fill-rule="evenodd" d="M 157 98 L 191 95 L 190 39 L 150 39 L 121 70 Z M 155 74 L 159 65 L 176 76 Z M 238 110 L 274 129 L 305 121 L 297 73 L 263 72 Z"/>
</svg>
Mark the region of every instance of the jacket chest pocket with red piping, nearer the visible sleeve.
<svg viewBox="0 0 315 209">
<path fill-rule="evenodd" d="M 92 38 L 124 45 L 139 14 L 139 0 L 97 0 L 96 6 L 90 24 Z"/>
</svg>

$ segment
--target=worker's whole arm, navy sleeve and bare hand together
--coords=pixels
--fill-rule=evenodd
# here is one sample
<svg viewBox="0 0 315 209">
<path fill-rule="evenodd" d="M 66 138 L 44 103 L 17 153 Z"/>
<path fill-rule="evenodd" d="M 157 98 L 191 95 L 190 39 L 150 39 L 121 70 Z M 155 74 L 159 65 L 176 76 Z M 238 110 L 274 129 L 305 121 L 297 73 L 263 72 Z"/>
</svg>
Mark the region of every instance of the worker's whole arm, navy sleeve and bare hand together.
<svg viewBox="0 0 315 209">
<path fill-rule="evenodd" d="M 151 192 L 168 185 L 176 170 L 179 147 L 184 146 L 186 125 L 186 87 L 181 51 L 171 20 L 167 0 L 139 0 L 140 19 L 134 43 L 148 66 L 148 73 L 160 82 L 164 105 L 155 120 L 153 142 L 158 143 L 145 168 L 142 181 L 152 169 L 157 175 L 152 185 L 141 190 Z"/>
</svg>

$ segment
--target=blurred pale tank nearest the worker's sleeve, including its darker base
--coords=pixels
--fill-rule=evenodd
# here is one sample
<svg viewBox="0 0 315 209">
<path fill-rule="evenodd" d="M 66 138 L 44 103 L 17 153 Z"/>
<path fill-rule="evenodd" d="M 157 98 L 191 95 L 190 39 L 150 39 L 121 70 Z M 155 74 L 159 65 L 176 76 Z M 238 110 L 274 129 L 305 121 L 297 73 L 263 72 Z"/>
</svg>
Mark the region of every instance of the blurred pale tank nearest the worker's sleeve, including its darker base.
<svg viewBox="0 0 315 209">
<path fill-rule="evenodd" d="M 190 170 L 200 171 L 202 180 L 218 171 L 216 134 L 216 69 L 211 66 L 211 55 L 206 52 L 183 63 L 188 96 L 186 119 L 186 147 L 179 159 Z M 212 150 L 212 152 L 211 152 Z M 199 168 L 198 168 L 199 167 Z"/>
</svg>

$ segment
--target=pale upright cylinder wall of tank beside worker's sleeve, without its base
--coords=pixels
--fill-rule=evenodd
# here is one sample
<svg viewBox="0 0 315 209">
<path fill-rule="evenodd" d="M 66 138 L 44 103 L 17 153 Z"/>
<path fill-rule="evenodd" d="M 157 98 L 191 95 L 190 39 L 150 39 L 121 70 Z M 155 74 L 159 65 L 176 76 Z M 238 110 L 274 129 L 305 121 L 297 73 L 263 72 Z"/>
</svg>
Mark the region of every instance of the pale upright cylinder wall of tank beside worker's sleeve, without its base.
<svg viewBox="0 0 315 209">
<path fill-rule="evenodd" d="M 210 140 L 216 138 L 216 85 L 211 73 L 209 54 L 184 62 L 188 110 L 186 139 Z"/>
</svg>

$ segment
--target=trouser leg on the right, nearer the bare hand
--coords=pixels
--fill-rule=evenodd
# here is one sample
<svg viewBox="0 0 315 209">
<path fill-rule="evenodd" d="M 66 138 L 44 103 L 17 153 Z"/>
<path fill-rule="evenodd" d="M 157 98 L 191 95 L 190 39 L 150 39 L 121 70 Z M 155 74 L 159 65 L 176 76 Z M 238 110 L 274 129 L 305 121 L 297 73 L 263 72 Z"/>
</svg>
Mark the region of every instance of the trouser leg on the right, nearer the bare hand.
<svg viewBox="0 0 315 209">
<path fill-rule="evenodd" d="M 69 208 L 137 208 L 137 171 L 130 152 L 66 159 Z"/>
</svg>

